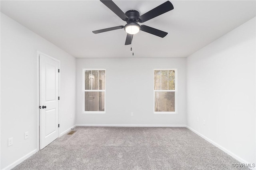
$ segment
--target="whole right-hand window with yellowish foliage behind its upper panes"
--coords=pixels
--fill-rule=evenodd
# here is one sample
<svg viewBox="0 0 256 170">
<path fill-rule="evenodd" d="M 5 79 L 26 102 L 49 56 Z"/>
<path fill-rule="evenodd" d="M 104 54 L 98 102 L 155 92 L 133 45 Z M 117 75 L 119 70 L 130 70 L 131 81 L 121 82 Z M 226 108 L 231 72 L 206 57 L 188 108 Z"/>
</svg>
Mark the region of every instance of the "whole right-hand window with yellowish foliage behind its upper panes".
<svg viewBox="0 0 256 170">
<path fill-rule="evenodd" d="M 177 113 L 176 69 L 154 69 L 154 113 Z"/>
</svg>

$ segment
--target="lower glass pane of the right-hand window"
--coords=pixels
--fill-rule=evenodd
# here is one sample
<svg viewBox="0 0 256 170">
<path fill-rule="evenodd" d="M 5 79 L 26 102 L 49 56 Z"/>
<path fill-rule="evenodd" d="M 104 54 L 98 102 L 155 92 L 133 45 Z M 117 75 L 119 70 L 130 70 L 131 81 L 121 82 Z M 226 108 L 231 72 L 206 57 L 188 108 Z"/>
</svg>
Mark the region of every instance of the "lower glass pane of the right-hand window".
<svg viewBox="0 0 256 170">
<path fill-rule="evenodd" d="M 156 91 L 155 92 L 155 111 L 174 112 L 175 111 L 175 92 Z"/>
</svg>

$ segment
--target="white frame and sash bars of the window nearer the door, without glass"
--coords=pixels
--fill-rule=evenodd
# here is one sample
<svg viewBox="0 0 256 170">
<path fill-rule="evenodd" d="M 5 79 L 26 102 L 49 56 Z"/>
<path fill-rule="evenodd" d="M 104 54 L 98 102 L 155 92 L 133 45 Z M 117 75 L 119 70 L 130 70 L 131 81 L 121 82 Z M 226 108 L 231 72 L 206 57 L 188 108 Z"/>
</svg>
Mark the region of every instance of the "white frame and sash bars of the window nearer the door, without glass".
<svg viewBox="0 0 256 170">
<path fill-rule="evenodd" d="M 84 73 L 86 70 L 104 70 L 105 71 L 105 90 L 86 90 L 85 89 L 85 76 L 84 76 Z M 82 76 L 83 76 L 83 87 L 82 87 L 82 92 L 83 92 L 83 103 L 82 103 L 82 113 L 84 114 L 105 114 L 106 113 L 106 69 L 86 69 L 84 68 L 83 69 L 83 73 L 82 73 Z M 98 86 L 99 86 L 99 83 L 98 83 Z M 85 110 L 85 92 L 86 91 L 92 91 L 92 92 L 104 92 L 105 93 L 105 97 L 104 97 L 104 111 L 84 111 Z"/>
</svg>

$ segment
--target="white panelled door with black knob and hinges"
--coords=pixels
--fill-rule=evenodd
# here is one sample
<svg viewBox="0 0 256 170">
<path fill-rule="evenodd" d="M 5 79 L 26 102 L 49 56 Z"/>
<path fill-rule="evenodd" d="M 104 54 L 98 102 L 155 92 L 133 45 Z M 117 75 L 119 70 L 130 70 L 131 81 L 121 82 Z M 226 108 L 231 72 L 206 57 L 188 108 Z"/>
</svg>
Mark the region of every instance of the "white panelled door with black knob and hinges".
<svg viewBox="0 0 256 170">
<path fill-rule="evenodd" d="M 40 149 L 58 138 L 59 122 L 59 62 L 39 55 L 39 90 L 40 90 Z"/>
</svg>

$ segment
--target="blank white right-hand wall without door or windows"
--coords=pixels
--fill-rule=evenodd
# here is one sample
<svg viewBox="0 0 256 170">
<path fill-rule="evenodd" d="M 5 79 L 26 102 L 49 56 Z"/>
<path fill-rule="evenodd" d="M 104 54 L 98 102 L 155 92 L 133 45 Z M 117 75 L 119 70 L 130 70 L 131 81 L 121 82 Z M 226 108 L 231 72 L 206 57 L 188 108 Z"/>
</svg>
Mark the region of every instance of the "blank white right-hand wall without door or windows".
<svg viewBox="0 0 256 170">
<path fill-rule="evenodd" d="M 251 164 L 256 143 L 255 29 L 253 18 L 187 58 L 188 126 Z"/>
</svg>

